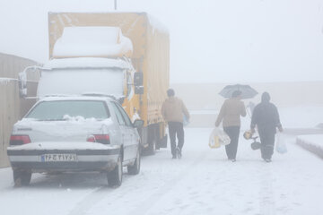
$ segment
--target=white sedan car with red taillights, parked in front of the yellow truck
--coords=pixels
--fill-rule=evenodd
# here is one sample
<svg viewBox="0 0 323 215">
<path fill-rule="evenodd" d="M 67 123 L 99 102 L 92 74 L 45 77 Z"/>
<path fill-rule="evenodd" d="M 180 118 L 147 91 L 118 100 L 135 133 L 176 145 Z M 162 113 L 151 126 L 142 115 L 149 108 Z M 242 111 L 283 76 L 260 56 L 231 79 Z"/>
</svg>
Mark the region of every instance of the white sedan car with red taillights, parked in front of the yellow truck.
<svg viewBox="0 0 323 215">
<path fill-rule="evenodd" d="M 122 183 L 122 167 L 140 171 L 140 137 L 125 110 L 109 97 L 41 99 L 13 126 L 7 148 L 15 185 L 34 172 L 100 171 Z"/>
</svg>

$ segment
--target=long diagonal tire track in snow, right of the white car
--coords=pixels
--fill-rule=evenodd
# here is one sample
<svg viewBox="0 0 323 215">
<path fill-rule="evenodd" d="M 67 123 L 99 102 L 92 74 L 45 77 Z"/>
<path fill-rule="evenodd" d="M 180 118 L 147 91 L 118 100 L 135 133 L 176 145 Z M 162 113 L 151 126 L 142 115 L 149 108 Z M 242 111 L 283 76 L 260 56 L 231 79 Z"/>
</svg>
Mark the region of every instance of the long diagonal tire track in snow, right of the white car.
<svg viewBox="0 0 323 215">
<path fill-rule="evenodd" d="M 188 173 L 192 171 L 199 163 L 201 163 L 205 158 L 205 154 L 208 151 L 202 151 L 200 155 L 192 161 L 193 164 L 188 163 L 188 167 L 182 170 L 178 176 L 174 177 L 170 181 L 168 181 L 165 185 L 162 185 L 155 193 L 151 194 L 144 200 L 144 204 L 141 204 L 139 207 L 135 209 L 135 214 L 146 214 L 153 206 L 161 199 L 165 194 L 169 193 L 171 187 L 176 186 L 183 177 L 187 176 Z M 163 192 L 161 192 L 161 190 Z M 134 212 L 130 211 L 129 215 L 133 215 Z"/>
</svg>

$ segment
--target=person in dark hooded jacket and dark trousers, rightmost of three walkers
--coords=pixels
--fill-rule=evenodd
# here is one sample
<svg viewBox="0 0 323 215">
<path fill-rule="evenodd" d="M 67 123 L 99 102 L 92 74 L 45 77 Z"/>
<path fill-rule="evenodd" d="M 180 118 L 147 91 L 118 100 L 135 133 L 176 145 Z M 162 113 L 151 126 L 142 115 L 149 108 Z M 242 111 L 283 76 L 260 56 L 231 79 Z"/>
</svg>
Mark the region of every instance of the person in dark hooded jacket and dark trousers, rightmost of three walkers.
<svg viewBox="0 0 323 215">
<path fill-rule="evenodd" d="M 254 108 L 250 125 L 252 133 L 255 133 L 256 125 L 258 127 L 261 157 L 266 162 L 271 162 L 271 157 L 274 153 L 276 128 L 283 132 L 277 107 L 269 101 L 269 93 L 264 92 L 261 96 L 261 102 Z"/>
</svg>

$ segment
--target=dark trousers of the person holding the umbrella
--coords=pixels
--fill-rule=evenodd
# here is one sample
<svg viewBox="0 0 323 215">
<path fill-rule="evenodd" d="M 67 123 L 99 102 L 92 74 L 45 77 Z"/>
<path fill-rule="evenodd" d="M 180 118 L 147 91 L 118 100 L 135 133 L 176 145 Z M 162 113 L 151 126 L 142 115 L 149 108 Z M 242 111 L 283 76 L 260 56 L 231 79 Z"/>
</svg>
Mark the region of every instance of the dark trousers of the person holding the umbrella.
<svg viewBox="0 0 323 215">
<path fill-rule="evenodd" d="M 223 130 L 231 139 L 230 144 L 225 146 L 225 151 L 227 153 L 228 159 L 236 159 L 240 126 L 223 127 Z"/>
</svg>

